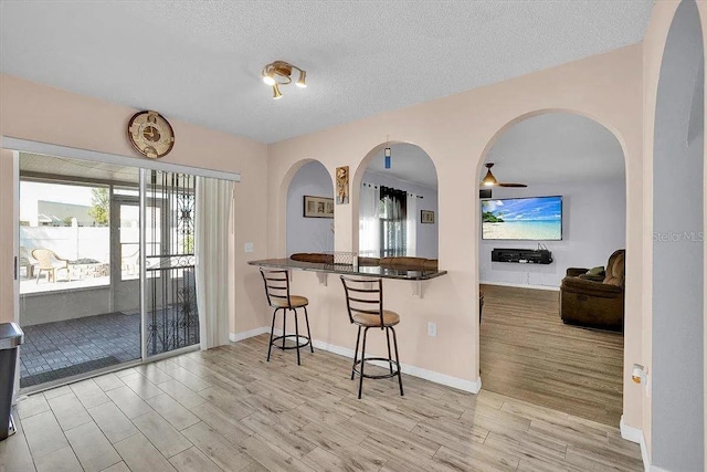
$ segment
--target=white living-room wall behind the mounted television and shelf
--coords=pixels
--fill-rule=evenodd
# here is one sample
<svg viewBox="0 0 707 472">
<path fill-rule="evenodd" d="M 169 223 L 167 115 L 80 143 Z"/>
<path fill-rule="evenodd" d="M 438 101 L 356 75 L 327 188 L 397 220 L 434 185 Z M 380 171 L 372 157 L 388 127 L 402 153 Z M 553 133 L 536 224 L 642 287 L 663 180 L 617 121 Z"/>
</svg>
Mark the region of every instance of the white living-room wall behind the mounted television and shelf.
<svg viewBox="0 0 707 472">
<path fill-rule="evenodd" d="M 611 253 L 626 244 L 625 188 L 624 179 L 538 185 L 525 189 L 494 188 L 494 198 L 562 196 L 562 241 L 541 241 L 552 252 L 551 264 L 517 264 L 492 262 L 492 250 L 537 249 L 538 242 L 488 241 L 479 237 L 482 283 L 559 287 L 567 268 L 606 265 Z"/>
</svg>

